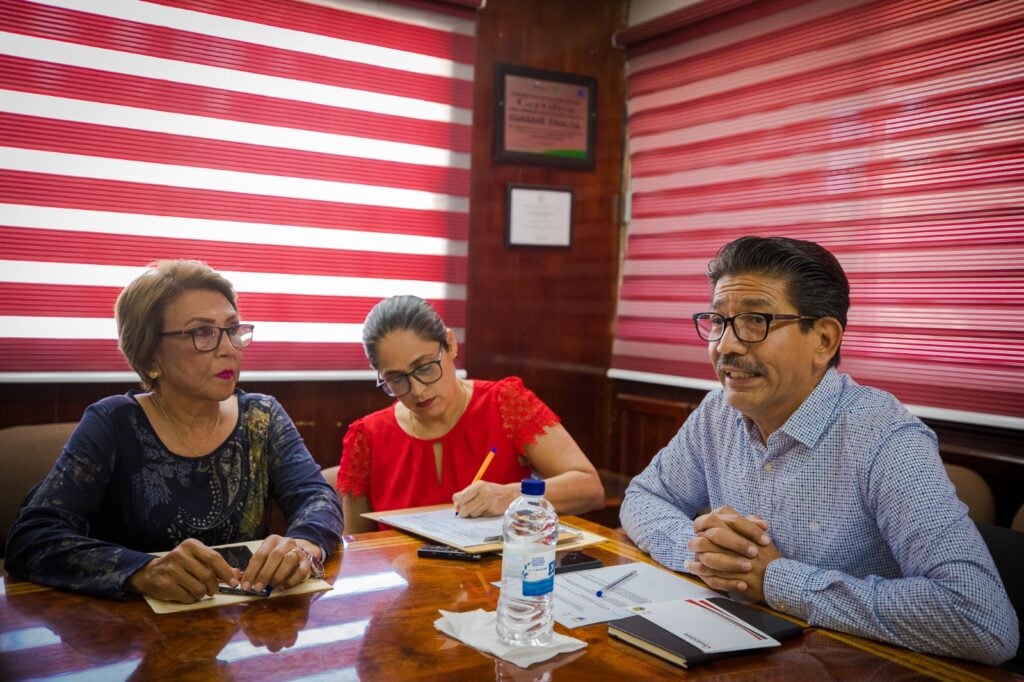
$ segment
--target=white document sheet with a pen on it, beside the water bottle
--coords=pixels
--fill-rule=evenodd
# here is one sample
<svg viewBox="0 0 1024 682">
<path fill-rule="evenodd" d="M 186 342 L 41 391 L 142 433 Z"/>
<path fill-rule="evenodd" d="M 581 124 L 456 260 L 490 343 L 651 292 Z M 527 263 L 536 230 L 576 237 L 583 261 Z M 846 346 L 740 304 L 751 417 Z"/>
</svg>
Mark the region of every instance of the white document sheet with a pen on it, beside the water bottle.
<svg viewBox="0 0 1024 682">
<path fill-rule="evenodd" d="M 706 587 L 649 563 L 626 563 L 555 576 L 554 613 L 555 621 L 566 628 L 579 628 L 636 615 L 639 606 L 654 601 L 717 596 Z"/>
</svg>

